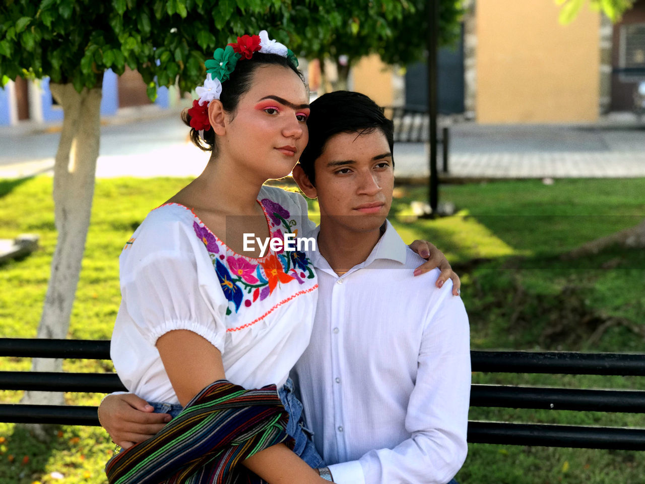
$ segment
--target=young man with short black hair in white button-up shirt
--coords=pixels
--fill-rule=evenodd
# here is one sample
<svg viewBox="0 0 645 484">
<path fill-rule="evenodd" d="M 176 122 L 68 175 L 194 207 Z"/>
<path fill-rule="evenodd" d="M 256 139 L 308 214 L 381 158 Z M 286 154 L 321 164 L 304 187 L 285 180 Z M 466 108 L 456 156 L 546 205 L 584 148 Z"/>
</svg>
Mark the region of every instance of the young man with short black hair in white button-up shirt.
<svg viewBox="0 0 645 484">
<path fill-rule="evenodd" d="M 452 283 L 435 286 L 438 269 L 413 276 L 422 259 L 386 220 L 392 122 L 353 92 L 325 94 L 311 107 L 293 177 L 321 210 L 317 247 L 307 254 L 319 301 L 292 376 L 315 445 L 337 483 L 445 484 L 467 451 L 464 305 Z M 159 430 L 137 418 L 133 441 Z"/>
</svg>

